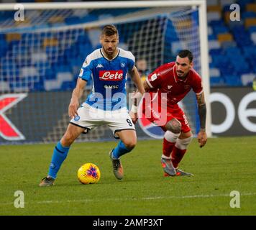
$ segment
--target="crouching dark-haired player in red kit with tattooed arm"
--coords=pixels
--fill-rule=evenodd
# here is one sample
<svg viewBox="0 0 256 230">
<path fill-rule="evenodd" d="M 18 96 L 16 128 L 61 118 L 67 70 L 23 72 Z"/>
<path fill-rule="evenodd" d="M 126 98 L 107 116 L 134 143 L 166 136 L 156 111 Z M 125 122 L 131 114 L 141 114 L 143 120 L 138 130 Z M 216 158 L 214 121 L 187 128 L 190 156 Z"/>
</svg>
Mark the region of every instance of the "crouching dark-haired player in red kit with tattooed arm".
<svg viewBox="0 0 256 230">
<path fill-rule="evenodd" d="M 178 52 L 175 62 L 161 65 L 148 75 L 144 83 L 145 91 L 151 94 L 151 103 L 143 101 L 142 111 L 145 114 L 150 109 L 149 119 L 165 131 L 163 139 L 163 155 L 161 163 L 165 176 L 192 175 L 178 169 L 178 164 L 186 153 L 193 136 L 186 115 L 178 106 L 186 94 L 192 90 L 196 93 L 200 131 L 198 143 L 203 147 L 207 141 L 206 135 L 206 103 L 201 77 L 193 69 L 193 54 L 189 50 Z M 158 111 L 154 104 L 158 103 Z M 148 112 L 148 111 L 147 111 Z M 157 113 L 159 113 L 157 116 Z M 162 119 L 160 118 L 162 116 Z M 163 122 L 164 118 L 164 122 Z"/>
</svg>

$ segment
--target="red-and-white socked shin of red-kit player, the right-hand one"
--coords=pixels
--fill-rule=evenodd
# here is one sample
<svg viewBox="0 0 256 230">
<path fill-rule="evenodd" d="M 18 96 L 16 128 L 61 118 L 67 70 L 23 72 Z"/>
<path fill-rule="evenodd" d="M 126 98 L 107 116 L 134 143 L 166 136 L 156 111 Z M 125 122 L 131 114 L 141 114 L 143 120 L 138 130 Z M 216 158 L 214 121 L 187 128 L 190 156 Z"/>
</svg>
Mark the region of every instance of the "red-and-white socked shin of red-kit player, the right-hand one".
<svg viewBox="0 0 256 230">
<path fill-rule="evenodd" d="M 186 139 L 177 139 L 175 146 L 173 147 L 173 152 L 171 155 L 171 159 L 173 162 L 173 167 L 177 168 L 178 164 L 182 160 L 183 156 L 186 153 L 188 148 L 188 144 L 191 143 L 193 137 L 188 137 Z"/>
</svg>

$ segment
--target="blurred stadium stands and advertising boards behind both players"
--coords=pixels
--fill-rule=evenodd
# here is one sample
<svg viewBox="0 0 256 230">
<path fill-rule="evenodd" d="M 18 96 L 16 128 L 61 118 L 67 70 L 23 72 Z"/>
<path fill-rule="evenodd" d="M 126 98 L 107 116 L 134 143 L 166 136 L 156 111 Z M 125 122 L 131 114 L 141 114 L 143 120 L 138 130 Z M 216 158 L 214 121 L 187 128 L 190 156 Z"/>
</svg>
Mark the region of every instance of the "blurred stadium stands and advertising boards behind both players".
<svg viewBox="0 0 256 230">
<path fill-rule="evenodd" d="M 1 1 L 6 2 L 34 1 Z M 256 1 L 209 0 L 206 3 L 211 132 L 214 136 L 254 135 Z M 234 3 L 239 5 L 239 21 L 230 20 L 230 6 Z M 141 68 L 137 63 L 142 78 L 158 65 L 175 60 L 182 48 L 193 51 L 195 68 L 201 71 L 198 10 L 194 7 L 25 9 L 24 21 L 15 21 L 15 12 L 0 10 L 1 144 L 57 142 L 62 137 L 69 121 L 70 95 L 81 65 L 86 55 L 101 47 L 99 32 L 108 22 L 114 22 L 119 29 L 119 46 L 132 51 L 137 60 L 146 61 Z M 86 93 L 90 87 L 91 83 Z M 133 89 L 128 80 L 127 90 Z M 182 106 L 196 134 L 198 117 L 193 95 Z M 149 133 L 161 135 L 159 129 L 147 129 L 147 124 L 144 125 L 142 129 L 137 124 L 138 137 L 152 138 Z M 109 139 L 112 139 L 111 132 L 101 126 L 78 141 Z"/>
</svg>

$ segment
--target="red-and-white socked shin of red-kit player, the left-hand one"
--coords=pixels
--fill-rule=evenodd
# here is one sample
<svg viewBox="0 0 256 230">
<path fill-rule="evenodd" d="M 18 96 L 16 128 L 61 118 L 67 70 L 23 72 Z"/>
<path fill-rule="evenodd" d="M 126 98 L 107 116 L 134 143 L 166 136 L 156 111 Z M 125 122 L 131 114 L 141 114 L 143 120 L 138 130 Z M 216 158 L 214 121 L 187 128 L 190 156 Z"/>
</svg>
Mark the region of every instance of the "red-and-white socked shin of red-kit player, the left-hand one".
<svg viewBox="0 0 256 230">
<path fill-rule="evenodd" d="M 170 159 L 170 153 L 173 151 L 173 147 L 178 139 L 178 136 L 180 136 L 180 133 L 175 134 L 170 131 L 165 132 L 165 136 L 163 138 L 163 158 Z"/>
</svg>

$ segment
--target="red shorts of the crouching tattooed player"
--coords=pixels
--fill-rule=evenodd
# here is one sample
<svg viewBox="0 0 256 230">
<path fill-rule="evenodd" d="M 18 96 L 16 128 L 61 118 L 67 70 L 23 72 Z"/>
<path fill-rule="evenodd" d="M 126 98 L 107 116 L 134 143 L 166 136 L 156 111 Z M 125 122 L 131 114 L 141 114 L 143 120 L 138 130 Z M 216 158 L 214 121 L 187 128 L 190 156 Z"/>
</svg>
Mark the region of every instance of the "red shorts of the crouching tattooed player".
<svg viewBox="0 0 256 230">
<path fill-rule="evenodd" d="M 153 106 L 152 106 L 153 107 Z M 158 107 L 158 109 L 146 107 L 145 104 L 142 109 L 142 117 L 146 117 L 150 122 L 154 123 L 157 126 L 160 126 L 163 131 L 166 132 L 165 125 L 170 121 L 171 119 L 175 118 L 181 123 L 181 132 L 189 132 L 191 131 L 190 126 L 188 125 L 188 119 L 186 118 L 186 115 L 180 109 L 178 104 L 173 105 L 172 108 L 168 107 L 168 109 L 163 109 L 161 107 Z"/>
</svg>

